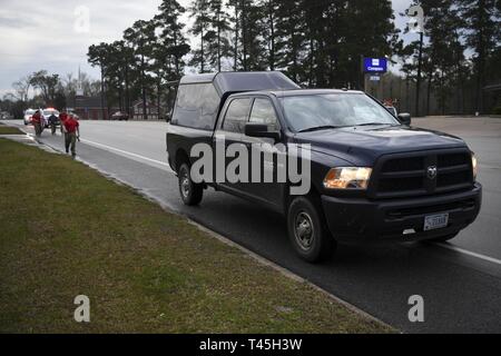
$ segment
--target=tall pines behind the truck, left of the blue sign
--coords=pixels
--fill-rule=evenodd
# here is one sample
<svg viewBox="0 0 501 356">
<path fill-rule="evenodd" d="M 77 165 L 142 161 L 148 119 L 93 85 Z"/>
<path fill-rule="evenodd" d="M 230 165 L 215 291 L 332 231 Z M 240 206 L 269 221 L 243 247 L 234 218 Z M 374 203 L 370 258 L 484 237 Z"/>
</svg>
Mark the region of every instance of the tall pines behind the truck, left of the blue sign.
<svg viewBox="0 0 501 356">
<path fill-rule="evenodd" d="M 188 8 L 164 0 L 151 20 L 91 46 L 88 57 L 109 102 L 127 111 L 131 98 L 141 98 L 145 118 L 151 103 L 165 116 L 168 88 L 186 68 L 282 70 L 306 87 L 360 88 L 361 56 L 391 57 L 401 44 L 393 20 L 385 0 L 194 0 Z"/>
</svg>

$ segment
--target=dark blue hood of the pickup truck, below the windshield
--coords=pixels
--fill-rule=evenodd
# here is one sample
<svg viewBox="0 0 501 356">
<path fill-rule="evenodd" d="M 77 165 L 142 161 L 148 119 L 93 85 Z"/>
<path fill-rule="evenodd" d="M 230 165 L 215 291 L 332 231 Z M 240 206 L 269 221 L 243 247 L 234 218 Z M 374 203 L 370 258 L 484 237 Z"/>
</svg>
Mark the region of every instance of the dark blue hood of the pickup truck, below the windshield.
<svg viewBox="0 0 501 356">
<path fill-rule="evenodd" d="M 311 144 L 313 151 L 342 158 L 355 166 L 370 167 L 383 155 L 466 147 L 458 137 L 405 126 L 304 132 L 296 135 L 295 142 Z"/>
</svg>

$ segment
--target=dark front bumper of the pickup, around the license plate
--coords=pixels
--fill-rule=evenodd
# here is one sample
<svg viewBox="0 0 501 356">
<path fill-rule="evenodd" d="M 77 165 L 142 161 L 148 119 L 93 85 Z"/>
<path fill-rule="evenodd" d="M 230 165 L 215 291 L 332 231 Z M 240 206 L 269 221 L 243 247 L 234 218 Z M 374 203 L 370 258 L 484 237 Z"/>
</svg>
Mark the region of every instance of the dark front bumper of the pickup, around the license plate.
<svg viewBox="0 0 501 356">
<path fill-rule="evenodd" d="M 322 197 L 328 228 L 341 243 L 416 241 L 456 234 L 472 224 L 482 205 L 482 186 L 433 197 L 369 200 Z M 424 218 L 449 214 L 446 228 L 424 231 Z M 404 231 L 414 230 L 414 234 Z"/>
</svg>

